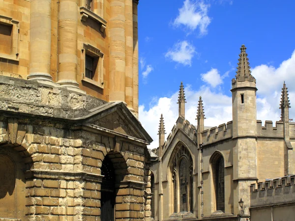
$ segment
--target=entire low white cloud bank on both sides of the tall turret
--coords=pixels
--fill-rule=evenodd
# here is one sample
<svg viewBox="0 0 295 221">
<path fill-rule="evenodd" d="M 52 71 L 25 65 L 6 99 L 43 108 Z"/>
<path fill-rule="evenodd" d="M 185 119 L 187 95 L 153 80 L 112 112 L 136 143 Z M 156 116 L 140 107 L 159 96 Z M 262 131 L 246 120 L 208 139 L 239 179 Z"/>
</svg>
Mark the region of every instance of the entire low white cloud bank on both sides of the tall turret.
<svg viewBox="0 0 295 221">
<path fill-rule="evenodd" d="M 275 122 L 280 119 L 280 97 L 283 81 L 289 90 L 289 98 L 292 104 L 295 104 L 295 51 L 291 58 L 283 61 L 278 68 L 267 65 L 259 65 L 252 69 L 252 74 L 257 80 L 257 119 L 272 120 Z M 212 69 L 210 70 L 212 71 Z M 209 71 L 209 72 L 210 72 Z M 208 73 L 208 72 L 207 72 Z M 218 71 L 217 71 L 218 73 Z M 219 75 L 220 76 L 220 75 Z M 225 75 L 223 75 L 225 76 Z M 222 77 L 221 76 L 221 79 Z M 234 77 L 234 75 L 233 75 Z M 230 82 L 230 80 L 229 80 Z M 191 124 L 196 125 L 196 112 L 199 96 L 204 101 L 204 110 L 206 114 L 206 126 L 218 126 L 232 120 L 232 97 L 223 92 L 217 93 L 210 87 L 203 85 L 199 90 L 192 90 L 188 85 L 185 88 L 187 103 L 185 105 L 185 116 Z M 139 119 L 153 138 L 149 148 L 158 146 L 158 125 L 161 113 L 163 113 L 166 138 L 168 137 L 173 125 L 178 117 L 177 105 L 178 91 L 171 97 L 162 97 L 150 103 L 150 107 L 141 105 L 139 107 Z M 290 109 L 290 118 L 295 118 L 295 108 Z"/>
</svg>

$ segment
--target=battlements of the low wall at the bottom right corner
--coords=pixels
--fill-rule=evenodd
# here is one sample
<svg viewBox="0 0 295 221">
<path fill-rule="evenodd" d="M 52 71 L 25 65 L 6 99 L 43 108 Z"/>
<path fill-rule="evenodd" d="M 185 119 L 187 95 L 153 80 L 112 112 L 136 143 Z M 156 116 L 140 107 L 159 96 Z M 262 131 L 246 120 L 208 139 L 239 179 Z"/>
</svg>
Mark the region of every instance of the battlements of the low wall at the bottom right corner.
<svg viewBox="0 0 295 221">
<path fill-rule="evenodd" d="M 252 184 L 251 207 L 295 201 L 294 181 L 291 175 Z"/>
</svg>

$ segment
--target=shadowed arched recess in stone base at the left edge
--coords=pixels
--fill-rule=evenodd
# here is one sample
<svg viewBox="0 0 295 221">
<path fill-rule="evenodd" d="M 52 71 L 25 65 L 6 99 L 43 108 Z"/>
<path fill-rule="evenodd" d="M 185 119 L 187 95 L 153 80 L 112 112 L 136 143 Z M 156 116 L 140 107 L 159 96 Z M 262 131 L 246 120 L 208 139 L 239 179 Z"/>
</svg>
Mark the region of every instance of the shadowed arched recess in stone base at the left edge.
<svg viewBox="0 0 295 221">
<path fill-rule="evenodd" d="M 0 218 L 25 219 L 26 180 L 22 157 L 0 147 Z"/>
</svg>

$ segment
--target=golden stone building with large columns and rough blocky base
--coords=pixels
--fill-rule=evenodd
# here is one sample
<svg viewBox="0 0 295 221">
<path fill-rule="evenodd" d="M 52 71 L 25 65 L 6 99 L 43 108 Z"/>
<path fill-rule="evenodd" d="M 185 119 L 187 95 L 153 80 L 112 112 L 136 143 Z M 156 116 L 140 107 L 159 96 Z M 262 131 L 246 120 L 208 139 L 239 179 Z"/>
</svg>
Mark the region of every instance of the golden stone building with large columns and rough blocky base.
<svg viewBox="0 0 295 221">
<path fill-rule="evenodd" d="M 150 219 L 137 5 L 0 1 L 0 221 Z"/>
</svg>

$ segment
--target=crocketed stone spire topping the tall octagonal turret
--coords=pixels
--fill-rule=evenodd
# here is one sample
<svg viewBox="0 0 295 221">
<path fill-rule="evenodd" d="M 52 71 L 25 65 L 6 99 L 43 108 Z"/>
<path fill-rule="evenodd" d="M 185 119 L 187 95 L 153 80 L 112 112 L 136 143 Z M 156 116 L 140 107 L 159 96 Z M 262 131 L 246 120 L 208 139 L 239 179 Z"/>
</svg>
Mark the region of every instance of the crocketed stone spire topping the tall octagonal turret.
<svg viewBox="0 0 295 221">
<path fill-rule="evenodd" d="M 239 54 L 238 63 L 237 63 L 237 71 L 236 71 L 236 81 L 237 82 L 244 82 L 244 81 L 250 81 L 255 82 L 255 78 L 251 75 L 250 70 L 250 63 L 248 54 L 246 53 L 246 47 L 245 45 L 242 45 L 240 50 L 241 53 Z"/>
</svg>

